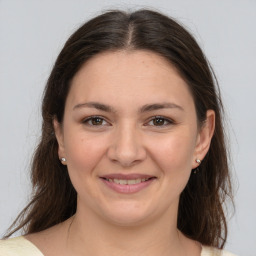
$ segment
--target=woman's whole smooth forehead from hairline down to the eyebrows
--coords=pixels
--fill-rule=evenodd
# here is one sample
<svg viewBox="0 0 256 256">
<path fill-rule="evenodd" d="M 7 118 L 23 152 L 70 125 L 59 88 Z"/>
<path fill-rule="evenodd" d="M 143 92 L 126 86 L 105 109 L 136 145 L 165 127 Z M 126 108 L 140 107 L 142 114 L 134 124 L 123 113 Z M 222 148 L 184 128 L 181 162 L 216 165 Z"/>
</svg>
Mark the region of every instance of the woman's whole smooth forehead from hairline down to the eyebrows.
<svg viewBox="0 0 256 256">
<path fill-rule="evenodd" d="M 95 99 L 95 97 L 97 99 Z M 186 82 L 163 57 L 150 51 L 115 51 L 98 54 L 74 76 L 69 102 L 112 101 L 191 102 Z M 129 101 L 130 99 L 130 101 Z M 147 102 L 144 102 L 147 104 Z"/>
</svg>

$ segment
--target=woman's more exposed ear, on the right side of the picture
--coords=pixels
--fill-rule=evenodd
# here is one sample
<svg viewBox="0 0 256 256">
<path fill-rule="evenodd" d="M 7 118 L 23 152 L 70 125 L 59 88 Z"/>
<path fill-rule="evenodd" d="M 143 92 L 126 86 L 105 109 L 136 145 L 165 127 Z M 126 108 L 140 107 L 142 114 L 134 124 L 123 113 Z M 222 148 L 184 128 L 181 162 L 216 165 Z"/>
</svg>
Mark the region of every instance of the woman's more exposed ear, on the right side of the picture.
<svg viewBox="0 0 256 256">
<path fill-rule="evenodd" d="M 213 110 L 208 110 L 206 112 L 206 119 L 198 133 L 196 147 L 194 151 L 194 158 L 192 162 L 192 169 L 198 167 L 196 159 L 202 161 L 207 154 L 211 139 L 214 134 L 215 129 L 215 112 Z"/>
</svg>

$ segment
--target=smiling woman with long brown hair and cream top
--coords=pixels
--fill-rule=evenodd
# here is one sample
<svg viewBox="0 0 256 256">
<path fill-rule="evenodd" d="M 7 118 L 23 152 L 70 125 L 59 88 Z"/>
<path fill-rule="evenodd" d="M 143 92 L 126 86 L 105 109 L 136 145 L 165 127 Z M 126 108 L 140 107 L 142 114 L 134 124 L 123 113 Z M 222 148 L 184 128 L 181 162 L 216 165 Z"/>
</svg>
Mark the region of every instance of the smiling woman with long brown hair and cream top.
<svg viewBox="0 0 256 256">
<path fill-rule="evenodd" d="M 177 22 L 139 10 L 84 24 L 42 115 L 33 198 L 5 238 L 24 236 L 1 241 L 1 256 L 232 255 L 218 86 Z"/>
</svg>

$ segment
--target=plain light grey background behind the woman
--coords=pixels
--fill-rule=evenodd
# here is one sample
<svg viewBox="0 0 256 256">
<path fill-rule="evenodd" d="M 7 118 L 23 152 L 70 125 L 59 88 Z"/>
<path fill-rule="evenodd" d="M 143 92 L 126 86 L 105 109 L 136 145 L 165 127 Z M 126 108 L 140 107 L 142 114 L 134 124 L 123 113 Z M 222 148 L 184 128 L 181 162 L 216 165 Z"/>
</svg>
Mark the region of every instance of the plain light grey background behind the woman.
<svg viewBox="0 0 256 256">
<path fill-rule="evenodd" d="M 27 202 L 41 94 L 65 40 L 101 10 L 139 7 L 155 8 L 185 24 L 216 71 L 237 184 L 226 249 L 255 256 L 255 0 L 0 0 L 0 234 Z"/>
</svg>

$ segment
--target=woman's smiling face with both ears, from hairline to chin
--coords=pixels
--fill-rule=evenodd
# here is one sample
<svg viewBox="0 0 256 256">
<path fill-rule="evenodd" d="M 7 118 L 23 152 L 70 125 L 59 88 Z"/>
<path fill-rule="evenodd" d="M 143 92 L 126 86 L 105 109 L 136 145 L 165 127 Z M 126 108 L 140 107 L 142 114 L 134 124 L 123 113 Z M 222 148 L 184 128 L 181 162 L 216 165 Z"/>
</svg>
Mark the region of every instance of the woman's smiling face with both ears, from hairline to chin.
<svg viewBox="0 0 256 256">
<path fill-rule="evenodd" d="M 176 216 L 195 160 L 208 150 L 214 113 L 199 128 L 188 86 L 172 65 L 149 51 L 116 51 L 84 64 L 63 124 L 54 125 L 77 213 L 132 225 Z"/>
</svg>

